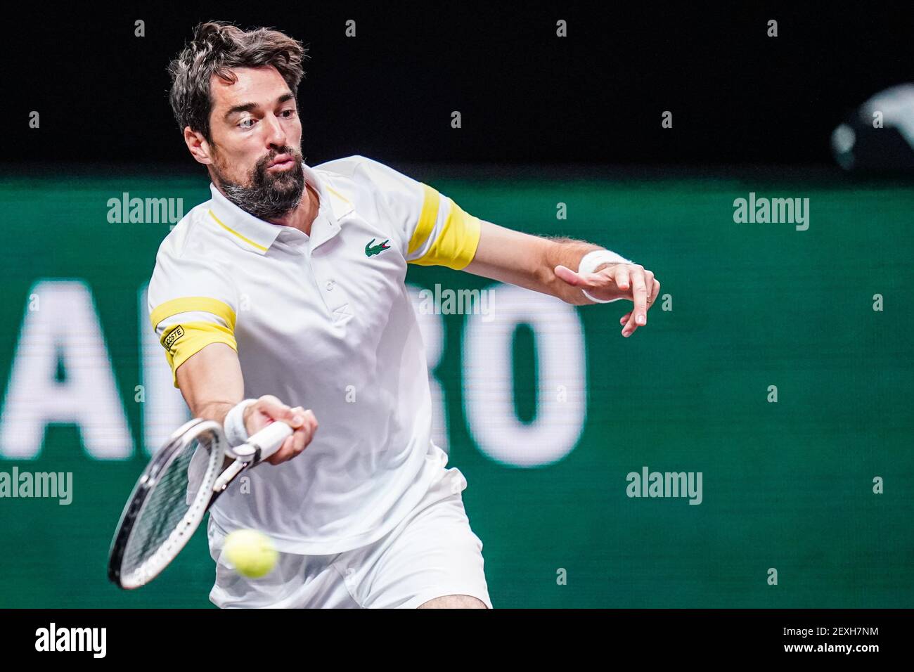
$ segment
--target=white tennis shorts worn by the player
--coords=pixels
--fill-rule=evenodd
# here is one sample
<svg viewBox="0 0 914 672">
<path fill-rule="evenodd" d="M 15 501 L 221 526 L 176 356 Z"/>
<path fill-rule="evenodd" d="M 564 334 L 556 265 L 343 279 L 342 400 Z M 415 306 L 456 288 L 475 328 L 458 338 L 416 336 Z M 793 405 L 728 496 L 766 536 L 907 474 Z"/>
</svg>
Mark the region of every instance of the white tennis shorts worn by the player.
<svg viewBox="0 0 914 672">
<path fill-rule="evenodd" d="M 335 555 L 280 553 L 265 577 L 247 579 L 221 558 L 226 531 L 209 517 L 209 552 L 219 607 L 415 608 L 441 595 L 471 595 L 492 608 L 483 542 L 463 509 L 466 479 L 441 468 L 419 505 L 387 535 Z"/>
</svg>

